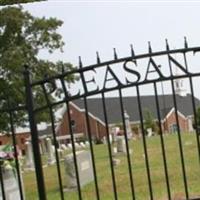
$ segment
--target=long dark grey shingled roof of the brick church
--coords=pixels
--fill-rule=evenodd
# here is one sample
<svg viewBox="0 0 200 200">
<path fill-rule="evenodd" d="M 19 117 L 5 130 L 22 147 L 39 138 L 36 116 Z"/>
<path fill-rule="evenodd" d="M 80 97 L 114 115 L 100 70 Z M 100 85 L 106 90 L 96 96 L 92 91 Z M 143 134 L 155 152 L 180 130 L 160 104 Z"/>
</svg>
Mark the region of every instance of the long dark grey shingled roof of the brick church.
<svg viewBox="0 0 200 200">
<path fill-rule="evenodd" d="M 150 110 L 154 118 L 157 119 L 157 109 L 156 109 L 156 100 L 155 96 L 141 96 L 141 105 L 142 112 L 145 110 Z M 169 111 L 174 108 L 173 96 L 172 95 L 159 95 L 159 106 L 160 106 L 160 115 L 164 119 Z M 118 97 L 109 97 L 106 98 L 106 112 L 109 124 L 115 124 L 122 121 L 121 119 L 121 110 L 120 110 L 120 100 Z M 177 108 L 178 111 L 183 115 L 190 116 L 193 115 L 193 107 L 191 101 L 191 95 L 179 96 L 176 95 Z M 84 109 L 83 99 L 78 99 L 73 101 L 78 107 Z M 88 98 L 88 111 L 105 122 L 103 114 L 103 103 L 101 98 Z M 138 101 L 137 96 L 123 97 L 124 110 L 127 111 L 130 116 L 130 121 L 137 122 L 140 121 L 139 110 L 138 110 Z M 200 106 L 200 100 L 195 98 L 196 107 Z"/>
</svg>

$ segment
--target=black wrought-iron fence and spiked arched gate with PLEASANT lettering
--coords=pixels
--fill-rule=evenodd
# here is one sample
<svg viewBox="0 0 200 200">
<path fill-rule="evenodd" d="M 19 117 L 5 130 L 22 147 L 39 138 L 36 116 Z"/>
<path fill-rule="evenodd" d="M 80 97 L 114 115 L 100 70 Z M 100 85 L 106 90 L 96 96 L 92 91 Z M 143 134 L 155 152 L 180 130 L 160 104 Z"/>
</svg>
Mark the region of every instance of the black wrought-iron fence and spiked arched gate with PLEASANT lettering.
<svg viewBox="0 0 200 200">
<path fill-rule="evenodd" d="M 86 127 L 86 138 L 89 141 L 89 148 L 88 151 L 91 154 L 91 160 L 92 160 L 92 171 L 94 175 L 94 187 L 93 187 L 93 195 L 91 199 L 104 199 L 104 191 L 100 188 L 99 183 L 100 179 L 100 171 L 99 171 L 99 162 L 97 162 L 97 155 L 96 155 L 96 144 L 94 144 L 94 133 L 92 131 L 92 121 L 90 119 L 91 117 L 91 105 L 90 105 L 90 97 L 93 97 L 94 95 L 99 95 L 98 98 L 100 99 L 99 101 L 101 102 L 100 104 L 97 104 L 99 112 L 102 113 L 102 119 L 104 122 L 104 127 L 105 127 L 105 135 L 104 137 L 107 140 L 106 145 L 104 145 L 104 148 L 107 148 L 108 155 L 107 155 L 107 160 L 109 163 L 109 170 L 110 170 L 110 184 L 109 184 L 109 190 L 111 192 L 112 190 L 112 199 L 120 199 L 121 198 L 121 193 L 123 193 L 120 188 L 119 188 L 119 180 L 118 180 L 118 169 L 115 167 L 113 163 L 113 143 L 110 139 L 110 116 L 112 115 L 112 112 L 109 111 L 109 104 L 107 103 L 107 100 L 109 99 L 109 94 L 112 91 L 115 91 L 117 93 L 116 99 L 118 101 L 118 114 L 120 115 L 121 118 L 121 128 L 123 130 L 123 137 L 125 141 L 125 148 L 126 148 L 126 154 L 124 154 L 125 161 L 127 162 L 127 171 L 126 174 L 128 174 L 128 180 L 127 180 L 127 187 L 130 188 L 130 192 L 128 194 L 127 199 L 141 199 L 141 197 L 138 196 L 137 190 L 137 183 L 138 181 L 135 180 L 135 163 L 134 163 L 134 157 L 137 156 L 133 152 L 133 154 L 130 153 L 130 148 L 132 147 L 132 140 L 128 138 L 128 132 L 127 132 L 127 126 L 126 126 L 126 119 L 124 116 L 124 111 L 127 109 L 127 105 L 125 106 L 125 97 L 124 97 L 124 91 L 126 92 L 127 88 L 131 88 L 135 91 L 133 96 L 136 97 L 137 99 L 137 112 L 138 112 L 138 117 L 139 117 L 139 129 L 141 131 L 141 141 L 142 143 L 140 146 L 143 148 L 144 152 L 144 166 L 145 170 L 143 169 L 140 173 L 141 179 L 146 176 L 147 177 L 147 182 L 146 186 L 148 187 L 147 193 L 149 199 L 174 199 L 174 191 L 173 191 L 173 186 L 171 184 L 171 181 L 173 179 L 172 175 L 169 172 L 169 167 L 170 167 L 170 162 L 168 162 L 169 156 L 166 153 L 166 146 L 165 143 L 165 136 L 166 133 L 164 133 L 164 127 L 163 127 L 163 116 L 161 113 L 161 104 L 163 105 L 164 103 L 161 102 L 160 96 L 164 97 L 165 95 L 162 94 L 162 91 L 159 90 L 159 84 L 163 83 L 169 83 L 169 87 L 171 88 L 171 100 L 174 108 L 174 117 L 175 117 L 175 124 L 177 125 L 177 141 L 178 141 L 178 151 L 179 151 L 179 161 L 180 162 L 179 166 L 181 167 L 181 177 L 182 177 L 182 184 L 183 187 L 181 187 L 181 192 L 182 198 L 183 199 L 199 199 L 199 197 L 194 197 L 196 195 L 200 195 L 200 189 L 197 189 L 198 191 L 195 191 L 195 195 L 192 193 L 190 194 L 191 186 L 188 183 L 188 174 L 186 170 L 186 161 L 185 161 L 185 156 L 184 156 L 184 143 L 182 139 L 182 127 L 180 124 L 180 112 L 179 112 L 179 106 L 180 103 L 178 102 L 177 98 L 177 92 L 176 92 L 176 85 L 175 81 L 180 80 L 180 79 L 185 79 L 188 80 L 189 82 L 189 89 L 190 89 L 190 106 L 192 108 L 192 116 L 193 116 L 193 123 L 195 125 L 198 124 L 198 116 L 197 116 L 197 100 L 195 97 L 195 92 L 194 92 L 194 79 L 198 78 L 200 76 L 200 72 L 198 69 L 196 69 L 195 72 L 190 71 L 190 66 L 188 65 L 187 61 L 187 55 L 190 53 L 194 53 L 194 55 L 197 55 L 197 53 L 200 51 L 200 47 L 192 47 L 189 48 L 187 45 L 187 42 L 185 42 L 185 46 L 182 49 L 175 49 L 175 50 L 170 50 L 168 43 L 166 42 L 166 50 L 161 51 L 161 52 L 153 52 L 151 49 L 151 45 L 149 44 L 149 52 L 147 54 L 142 54 L 142 55 L 135 55 L 134 50 L 131 46 L 131 56 L 130 57 L 125 57 L 125 58 L 118 58 L 118 55 L 116 53 L 116 50 L 114 49 L 114 59 L 111 61 L 106 61 L 106 62 L 101 62 L 99 53 L 97 53 L 97 64 L 90 65 L 90 66 L 85 66 L 83 67 L 81 59 L 79 59 L 79 68 L 74 69 L 72 71 L 66 71 L 62 74 L 55 75 L 53 77 L 47 77 L 44 78 L 43 80 L 40 81 L 31 81 L 31 74 L 29 72 L 28 67 L 26 67 L 25 72 L 24 72 L 24 78 L 25 78 L 25 93 L 26 93 L 26 106 L 18 107 L 18 108 L 10 108 L 9 106 L 9 101 L 8 101 L 8 109 L 1 110 L 1 113 L 7 113 L 9 115 L 9 124 L 10 124 L 10 132 L 12 136 L 12 145 L 14 147 L 14 152 L 15 155 L 17 155 L 17 142 L 16 142 L 16 133 L 15 133 L 15 125 L 13 121 L 13 113 L 16 110 L 25 110 L 28 113 L 29 116 L 29 124 L 30 124 L 30 134 L 31 134 L 31 141 L 32 141 L 32 148 L 33 148 L 33 155 L 34 155 L 34 164 L 35 164 L 35 175 L 36 175 L 36 183 L 37 183 L 37 189 L 38 189 L 38 198 L 40 200 L 45 200 L 48 199 L 48 185 L 45 182 L 46 176 L 44 176 L 44 171 L 46 168 L 43 168 L 43 161 L 42 161 L 42 156 L 40 153 L 40 146 L 39 146 L 39 134 L 38 134 L 38 128 L 37 128 L 37 122 L 36 122 L 36 115 L 40 114 L 41 111 L 47 110 L 50 116 L 50 124 L 51 124 L 51 133 L 52 133 L 52 140 L 55 145 L 55 169 L 56 169 L 56 175 L 57 177 L 54 177 L 54 179 L 57 179 L 57 193 L 59 193 L 59 196 L 57 198 L 59 199 L 70 199 L 70 197 L 66 197 L 66 192 L 65 192 L 65 183 L 63 183 L 64 180 L 64 174 L 62 171 L 62 163 L 60 161 L 60 155 L 59 155 L 59 149 L 56 147 L 56 144 L 58 143 L 57 141 L 57 123 L 56 123 L 56 116 L 55 116 L 55 108 L 59 105 L 65 105 L 66 107 L 66 116 L 67 120 L 66 124 L 68 124 L 69 130 L 68 130 L 68 135 L 70 136 L 70 141 L 72 145 L 72 154 L 73 154 L 73 162 L 74 162 L 74 168 L 75 168 L 75 177 L 77 181 L 77 188 L 76 188 L 76 195 L 77 199 L 87 199 L 85 195 L 83 195 L 83 188 L 80 183 L 80 171 L 78 169 L 78 161 L 77 161 L 77 156 L 76 156 L 76 151 L 77 147 L 75 144 L 75 132 L 73 130 L 73 124 L 71 123 L 72 120 L 72 113 L 70 112 L 70 106 L 71 103 L 75 102 L 76 100 L 80 100 L 82 102 L 82 106 L 84 108 L 84 119 L 85 119 L 85 127 Z M 183 60 L 179 62 L 178 59 L 174 57 L 174 55 L 179 55 L 182 56 Z M 161 65 L 157 64 L 157 57 L 162 57 L 164 56 L 165 59 L 168 62 L 168 74 L 166 75 L 162 71 Z M 140 72 L 139 70 L 142 68 L 142 66 L 138 66 L 140 60 L 147 59 L 147 65 L 146 65 L 146 71 L 145 72 Z M 123 70 L 123 73 L 125 73 L 124 80 L 122 81 L 120 79 L 120 76 L 117 75 L 117 73 L 114 71 L 114 68 L 116 69 L 117 67 L 121 67 L 121 70 Z M 174 74 L 174 66 L 178 68 L 182 73 L 181 74 Z M 163 67 L 164 68 L 164 67 Z M 97 82 L 97 78 L 95 77 L 98 76 L 103 76 L 101 69 L 104 69 L 104 78 L 103 78 L 103 84 L 101 86 Z M 99 70 L 99 74 L 97 73 L 97 70 Z M 100 73 L 101 72 L 101 73 Z M 88 80 L 86 73 L 93 74 L 93 77 Z M 151 77 L 149 78 L 150 75 L 156 74 L 157 77 Z M 81 89 L 77 90 L 76 93 L 71 93 L 69 88 L 66 85 L 65 78 L 69 75 L 79 75 L 79 82 L 81 82 Z M 114 82 L 114 84 L 109 84 L 111 82 Z M 56 89 L 55 84 L 57 86 L 62 88 L 63 90 L 63 98 L 58 99 L 56 102 L 52 102 L 51 99 L 49 98 L 50 93 L 53 93 L 54 91 L 47 91 L 46 84 L 53 84 L 54 89 Z M 90 89 L 89 85 L 92 84 L 95 86 L 95 89 Z M 109 85 L 109 87 L 107 87 Z M 160 140 L 160 154 L 162 158 L 162 165 L 159 166 L 159 170 L 163 169 L 164 173 L 164 189 L 161 196 L 155 196 L 155 190 L 154 190 L 154 184 L 155 182 L 153 181 L 154 177 L 152 176 L 152 166 L 151 166 L 151 159 L 150 159 L 150 153 L 148 150 L 148 141 L 149 138 L 146 136 L 146 127 L 145 127 L 145 119 L 144 119 L 144 110 L 143 110 L 143 102 L 142 98 L 143 95 L 141 94 L 142 92 L 142 87 L 146 85 L 151 85 L 151 94 L 153 95 L 154 98 L 154 104 L 155 104 L 155 111 L 156 111 L 156 123 L 158 126 L 158 138 Z M 41 105 L 41 106 L 35 106 L 34 105 L 34 95 L 33 95 L 33 90 L 35 87 L 41 87 L 44 97 L 46 99 L 46 105 Z M 131 107 L 131 105 L 129 105 Z M 133 105 L 132 105 L 133 106 Z M 129 107 L 129 108 L 130 108 Z M 167 109 L 167 108 L 166 108 Z M 108 114 L 109 112 L 109 114 Z M 136 112 L 136 111 L 135 111 Z M 199 139 L 199 131 L 198 129 L 195 129 L 195 140 L 196 140 L 196 145 L 194 149 L 194 154 L 196 155 L 196 161 L 198 162 L 198 173 L 200 173 L 200 139 Z M 98 138 L 98 139 L 102 139 Z M 156 150 L 155 150 L 156 151 Z M 187 158 L 188 159 L 188 158 Z M 25 199 L 23 191 L 23 184 L 22 184 L 22 176 L 20 173 L 20 165 L 19 165 L 19 160 L 15 159 L 16 162 L 16 171 L 17 171 L 17 180 L 18 180 L 18 185 L 19 185 L 19 193 L 20 193 L 20 198 Z M 107 162 L 106 160 L 103 160 L 102 162 Z M 97 170 L 98 168 L 98 170 Z M 102 169 L 104 170 L 104 169 Z M 199 174 L 196 174 L 198 177 Z M 6 194 L 5 194 L 5 188 L 4 188 L 4 181 L 3 181 L 3 175 L 2 175 L 2 168 L 0 168 L 0 177 L 1 177 L 1 191 L 2 191 L 2 198 L 6 199 Z M 106 177 L 104 177 L 106 178 Z M 198 180 L 198 179 L 197 179 Z M 25 180 L 24 180 L 25 181 Z M 26 184 L 26 183 L 24 183 Z M 146 187 L 145 186 L 145 187 Z M 69 191 L 68 191 L 69 192 Z M 73 193 L 73 192 L 72 192 Z M 34 197 L 37 198 L 37 197 Z M 89 197 L 88 197 L 89 198 Z M 123 197 L 124 198 L 124 197 Z M 31 197 L 26 197 L 26 199 L 31 199 Z M 122 198 L 121 198 L 122 199 Z"/>
</svg>

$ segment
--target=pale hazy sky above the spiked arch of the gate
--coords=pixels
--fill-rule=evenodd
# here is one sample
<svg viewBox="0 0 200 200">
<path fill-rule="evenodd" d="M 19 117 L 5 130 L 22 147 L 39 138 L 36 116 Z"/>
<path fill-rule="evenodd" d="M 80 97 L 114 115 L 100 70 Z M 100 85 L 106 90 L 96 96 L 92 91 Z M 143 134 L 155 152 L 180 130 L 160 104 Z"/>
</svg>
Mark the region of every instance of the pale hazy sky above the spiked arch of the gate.
<svg viewBox="0 0 200 200">
<path fill-rule="evenodd" d="M 38 17 L 56 17 L 64 24 L 58 30 L 65 42 L 64 53 L 42 53 L 53 61 L 63 60 L 78 65 L 113 59 L 113 48 L 119 57 L 130 55 L 130 44 L 136 54 L 165 50 L 167 38 L 171 49 L 200 46 L 200 3 L 196 1 L 64 1 L 24 4 Z M 166 86 L 168 87 L 168 86 Z M 166 89 L 168 90 L 168 89 Z M 145 90 L 144 90 L 145 91 Z M 148 92 L 147 92 L 148 93 Z"/>
</svg>

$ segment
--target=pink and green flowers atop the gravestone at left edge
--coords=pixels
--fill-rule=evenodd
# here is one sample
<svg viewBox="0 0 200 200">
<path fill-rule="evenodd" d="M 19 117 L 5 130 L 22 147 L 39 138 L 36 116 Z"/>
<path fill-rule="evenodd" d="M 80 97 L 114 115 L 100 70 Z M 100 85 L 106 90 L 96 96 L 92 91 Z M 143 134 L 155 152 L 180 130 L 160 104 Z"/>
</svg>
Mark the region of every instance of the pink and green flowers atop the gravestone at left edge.
<svg viewBox="0 0 200 200">
<path fill-rule="evenodd" d="M 15 153 L 10 144 L 0 149 L 0 166 L 5 170 L 15 169 Z"/>
</svg>

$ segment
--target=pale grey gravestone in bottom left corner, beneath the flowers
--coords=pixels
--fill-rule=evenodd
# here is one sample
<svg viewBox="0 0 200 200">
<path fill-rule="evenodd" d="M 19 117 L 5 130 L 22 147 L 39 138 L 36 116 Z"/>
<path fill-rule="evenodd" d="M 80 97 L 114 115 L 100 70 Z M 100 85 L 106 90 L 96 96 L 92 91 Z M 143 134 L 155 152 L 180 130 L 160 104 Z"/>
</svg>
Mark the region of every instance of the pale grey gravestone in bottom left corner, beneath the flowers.
<svg viewBox="0 0 200 200">
<path fill-rule="evenodd" d="M 14 173 L 16 172 L 13 169 L 2 169 L 6 200 L 21 200 L 17 175 Z M 3 200 L 1 190 L 0 200 Z"/>
</svg>

